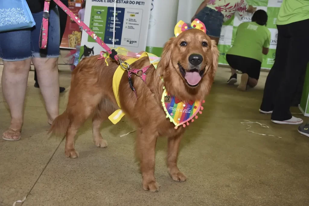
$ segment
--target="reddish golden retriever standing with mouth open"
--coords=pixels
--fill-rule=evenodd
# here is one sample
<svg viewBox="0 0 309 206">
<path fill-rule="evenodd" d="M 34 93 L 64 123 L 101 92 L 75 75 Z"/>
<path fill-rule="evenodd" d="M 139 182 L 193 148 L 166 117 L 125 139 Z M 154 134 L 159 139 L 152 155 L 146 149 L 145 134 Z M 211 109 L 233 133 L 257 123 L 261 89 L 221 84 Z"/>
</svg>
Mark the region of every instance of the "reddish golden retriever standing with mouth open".
<svg viewBox="0 0 309 206">
<path fill-rule="evenodd" d="M 137 97 L 129 87 L 127 73 L 122 76 L 120 105 L 137 129 L 136 152 L 140 160 L 144 190 L 159 190 L 154 175 L 155 146 L 159 136 L 167 138 L 168 174 L 175 181 L 186 180 L 186 176 L 177 167 L 180 140 L 186 128 L 175 129 L 175 125 L 166 118 L 161 102 L 163 86 L 183 102 L 203 100 L 213 84 L 218 55 L 215 42 L 205 32 L 188 29 L 164 45 L 157 69 L 150 66 L 146 71 L 146 83 L 132 75 Z M 66 111 L 53 121 L 49 131 L 66 135 L 66 157 L 78 157 L 74 136 L 90 117 L 95 145 L 106 147 L 107 142 L 102 138 L 99 127 L 110 114 L 119 109 L 112 89 L 113 75 L 119 64 L 108 58 L 107 66 L 105 60 L 98 57 L 86 58 L 74 69 Z M 142 69 L 148 65 L 149 59 L 144 57 L 131 64 L 130 68 Z M 187 75 L 197 74 L 200 75 L 196 78 L 198 81 L 187 78 Z"/>
</svg>

